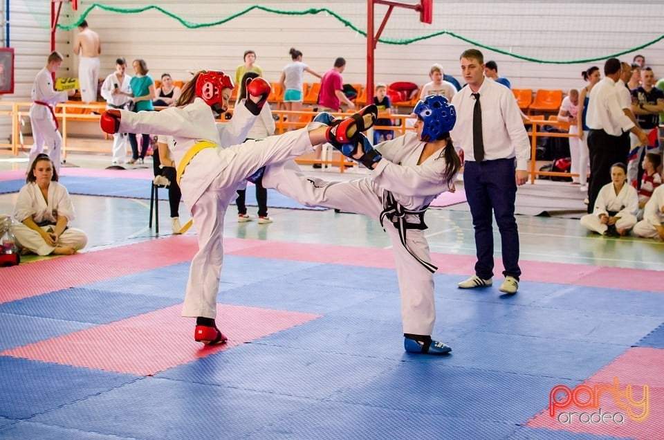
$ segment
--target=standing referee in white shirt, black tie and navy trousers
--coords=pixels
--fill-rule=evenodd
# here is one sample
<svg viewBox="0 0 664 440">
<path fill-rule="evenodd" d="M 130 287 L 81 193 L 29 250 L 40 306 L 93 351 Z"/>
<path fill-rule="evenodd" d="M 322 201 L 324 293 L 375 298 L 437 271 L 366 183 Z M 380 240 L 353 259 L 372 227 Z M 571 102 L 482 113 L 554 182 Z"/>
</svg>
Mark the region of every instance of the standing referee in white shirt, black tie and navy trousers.
<svg viewBox="0 0 664 440">
<path fill-rule="evenodd" d="M 450 132 L 463 148 L 463 187 L 475 230 L 475 275 L 460 288 L 490 286 L 493 277 L 493 214 L 500 232 L 505 281 L 500 290 L 519 288 L 519 231 L 514 217 L 517 185 L 528 178 L 531 144 L 521 111 L 510 89 L 484 77 L 484 57 L 477 49 L 461 54 L 461 74 L 468 86 L 452 98 L 457 125 Z"/>
</svg>

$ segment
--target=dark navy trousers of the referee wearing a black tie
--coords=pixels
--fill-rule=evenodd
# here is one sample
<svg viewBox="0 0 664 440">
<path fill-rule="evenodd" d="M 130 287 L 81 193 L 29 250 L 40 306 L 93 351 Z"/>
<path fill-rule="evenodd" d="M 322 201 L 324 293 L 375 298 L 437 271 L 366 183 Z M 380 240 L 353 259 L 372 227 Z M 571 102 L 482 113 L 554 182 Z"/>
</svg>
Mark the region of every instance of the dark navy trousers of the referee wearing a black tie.
<svg viewBox="0 0 664 440">
<path fill-rule="evenodd" d="M 475 275 L 482 279 L 493 277 L 492 223 L 495 214 L 502 244 L 503 275 L 519 279 L 519 230 L 514 217 L 517 196 L 515 159 L 465 162 L 463 187 L 475 229 Z"/>
</svg>

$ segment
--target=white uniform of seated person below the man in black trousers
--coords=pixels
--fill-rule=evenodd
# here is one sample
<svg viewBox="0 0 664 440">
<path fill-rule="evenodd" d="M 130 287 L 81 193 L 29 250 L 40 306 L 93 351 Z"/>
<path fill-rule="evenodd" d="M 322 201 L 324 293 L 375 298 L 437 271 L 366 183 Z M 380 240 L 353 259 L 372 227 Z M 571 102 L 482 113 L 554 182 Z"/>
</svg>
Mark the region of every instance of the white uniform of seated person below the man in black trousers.
<svg viewBox="0 0 664 440">
<path fill-rule="evenodd" d="M 614 191 L 614 183 L 602 186 L 595 201 L 595 209 L 592 214 L 581 217 L 581 226 L 600 234 L 607 232 L 609 226 L 600 222 L 600 215 L 609 215 L 609 211 L 616 212 L 614 217 L 620 217 L 616 221 L 616 229 L 630 230 L 636 225 L 636 212 L 638 211 L 638 193 L 628 183 L 618 194 Z"/>
</svg>

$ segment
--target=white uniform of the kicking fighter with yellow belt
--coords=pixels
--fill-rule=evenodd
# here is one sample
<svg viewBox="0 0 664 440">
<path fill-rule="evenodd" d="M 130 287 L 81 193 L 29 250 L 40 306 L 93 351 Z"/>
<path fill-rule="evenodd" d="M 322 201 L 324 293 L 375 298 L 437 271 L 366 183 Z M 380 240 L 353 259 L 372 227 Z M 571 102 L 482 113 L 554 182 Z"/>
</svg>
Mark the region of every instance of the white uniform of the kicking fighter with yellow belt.
<svg viewBox="0 0 664 440">
<path fill-rule="evenodd" d="M 212 110 L 201 98 L 185 107 L 162 111 L 121 110 L 119 131 L 173 136 L 176 163 L 199 141 L 219 148 L 206 148 L 187 165 L 180 181 L 183 201 L 189 208 L 199 237 L 199 251 L 192 259 L 183 316 L 216 317 L 216 297 L 223 263 L 223 219 L 237 196 L 239 182 L 269 163 L 284 162 L 313 151 L 308 131 L 322 124 L 311 122 L 304 129 L 281 136 L 248 141 L 256 116 L 238 106 L 230 122 L 216 124 Z"/>
</svg>

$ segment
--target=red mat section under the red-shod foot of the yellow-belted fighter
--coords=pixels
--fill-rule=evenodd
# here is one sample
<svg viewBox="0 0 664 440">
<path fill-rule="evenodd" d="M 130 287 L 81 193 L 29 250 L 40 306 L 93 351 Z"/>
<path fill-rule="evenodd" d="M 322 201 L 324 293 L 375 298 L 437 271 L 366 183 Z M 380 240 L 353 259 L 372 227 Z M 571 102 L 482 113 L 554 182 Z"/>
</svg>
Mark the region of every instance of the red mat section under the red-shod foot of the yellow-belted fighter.
<svg viewBox="0 0 664 440">
<path fill-rule="evenodd" d="M 182 318 L 181 307 L 9 349 L 0 356 L 149 376 L 320 318 L 312 313 L 219 304 L 216 322 L 228 342 L 205 347 L 194 341 L 194 319 Z"/>
</svg>

